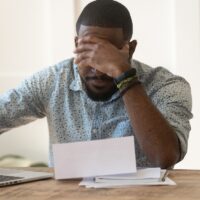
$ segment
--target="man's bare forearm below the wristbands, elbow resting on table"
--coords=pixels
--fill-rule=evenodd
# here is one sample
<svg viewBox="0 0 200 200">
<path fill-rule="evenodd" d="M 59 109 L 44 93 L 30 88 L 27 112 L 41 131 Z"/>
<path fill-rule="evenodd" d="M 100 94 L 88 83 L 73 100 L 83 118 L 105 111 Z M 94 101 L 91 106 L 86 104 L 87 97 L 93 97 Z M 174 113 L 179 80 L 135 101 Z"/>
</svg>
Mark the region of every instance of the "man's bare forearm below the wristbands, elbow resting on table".
<svg viewBox="0 0 200 200">
<path fill-rule="evenodd" d="M 135 137 L 151 163 L 161 168 L 174 165 L 180 158 L 178 137 L 153 105 L 142 85 L 135 85 L 123 96 Z"/>
</svg>

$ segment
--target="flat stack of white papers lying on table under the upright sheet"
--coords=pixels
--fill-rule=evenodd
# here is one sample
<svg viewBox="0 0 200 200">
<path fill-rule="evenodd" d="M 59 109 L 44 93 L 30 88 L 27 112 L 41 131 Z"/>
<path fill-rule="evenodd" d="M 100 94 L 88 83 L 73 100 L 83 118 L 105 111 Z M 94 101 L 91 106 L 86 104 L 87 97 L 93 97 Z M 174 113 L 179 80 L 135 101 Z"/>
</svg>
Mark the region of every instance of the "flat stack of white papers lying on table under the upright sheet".
<svg viewBox="0 0 200 200">
<path fill-rule="evenodd" d="M 136 173 L 84 178 L 79 185 L 87 188 L 112 188 L 131 185 L 176 185 L 160 168 L 138 169 Z"/>
</svg>

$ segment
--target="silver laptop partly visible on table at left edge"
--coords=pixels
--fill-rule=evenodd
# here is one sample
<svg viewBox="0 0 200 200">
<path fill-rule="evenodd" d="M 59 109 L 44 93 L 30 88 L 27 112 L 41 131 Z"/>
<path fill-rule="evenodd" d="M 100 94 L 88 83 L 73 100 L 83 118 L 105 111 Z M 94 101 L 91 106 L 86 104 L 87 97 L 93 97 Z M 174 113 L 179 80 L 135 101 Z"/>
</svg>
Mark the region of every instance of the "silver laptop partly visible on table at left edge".
<svg viewBox="0 0 200 200">
<path fill-rule="evenodd" d="M 0 168 L 0 187 L 53 178 L 53 173 Z"/>
</svg>

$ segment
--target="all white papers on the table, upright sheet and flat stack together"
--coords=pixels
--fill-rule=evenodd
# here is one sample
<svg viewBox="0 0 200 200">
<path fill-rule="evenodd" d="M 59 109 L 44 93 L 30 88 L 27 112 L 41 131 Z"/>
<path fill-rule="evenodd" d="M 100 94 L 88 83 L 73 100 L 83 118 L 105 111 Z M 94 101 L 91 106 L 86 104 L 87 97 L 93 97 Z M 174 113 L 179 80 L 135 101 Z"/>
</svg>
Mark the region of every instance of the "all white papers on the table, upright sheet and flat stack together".
<svg viewBox="0 0 200 200">
<path fill-rule="evenodd" d="M 56 179 L 82 177 L 88 188 L 175 184 L 166 170 L 136 168 L 133 136 L 54 144 L 53 155 Z"/>
</svg>

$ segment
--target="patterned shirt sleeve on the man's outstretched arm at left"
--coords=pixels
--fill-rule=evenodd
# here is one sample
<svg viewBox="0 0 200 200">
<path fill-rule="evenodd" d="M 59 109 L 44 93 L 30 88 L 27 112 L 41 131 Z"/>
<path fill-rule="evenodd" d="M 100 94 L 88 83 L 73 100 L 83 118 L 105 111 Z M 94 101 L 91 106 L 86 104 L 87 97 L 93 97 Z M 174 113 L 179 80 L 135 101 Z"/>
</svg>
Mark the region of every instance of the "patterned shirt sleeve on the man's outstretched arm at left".
<svg viewBox="0 0 200 200">
<path fill-rule="evenodd" d="M 0 133 L 45 116 L 45 71 L 0 95 Z"/>
</svg>

